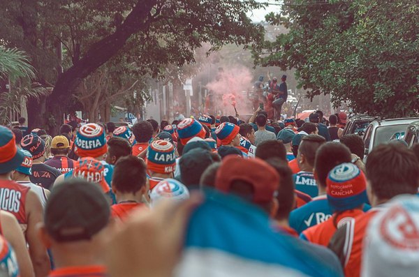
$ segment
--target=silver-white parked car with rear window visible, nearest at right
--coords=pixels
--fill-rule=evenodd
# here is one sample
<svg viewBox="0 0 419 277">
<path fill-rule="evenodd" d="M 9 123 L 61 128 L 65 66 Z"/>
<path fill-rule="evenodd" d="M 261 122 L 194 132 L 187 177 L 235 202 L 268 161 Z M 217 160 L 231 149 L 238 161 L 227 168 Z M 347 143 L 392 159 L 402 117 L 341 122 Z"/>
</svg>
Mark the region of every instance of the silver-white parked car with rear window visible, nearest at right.
<svg viewBox="0 0 419 277">
<path fill-rule="evenodd" d="M 374 147 L 391 139 L 402 139 L 406 129 L 413 121 L 418 121 L 419 117 L 409 117 L 400 119 L 376 119 L 369 123 L 365 130 L 365 158 Z"/>
</svg>

